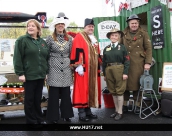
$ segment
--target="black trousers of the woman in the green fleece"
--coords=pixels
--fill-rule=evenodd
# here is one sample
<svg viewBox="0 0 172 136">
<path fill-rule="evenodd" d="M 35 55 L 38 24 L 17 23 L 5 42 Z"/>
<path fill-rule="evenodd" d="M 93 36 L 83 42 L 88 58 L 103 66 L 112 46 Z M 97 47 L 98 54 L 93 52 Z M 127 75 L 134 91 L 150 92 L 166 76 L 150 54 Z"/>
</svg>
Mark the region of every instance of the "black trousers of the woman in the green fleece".
<svg viewBox="0 0 172 136">
<path fill-rule="evenodd" d="M 35 124 L 43 121 L 41 110 L 41 98 L 44 79 L 26 80 L 24 82 L 24 111 L 27 124 Z"/>
</svg>

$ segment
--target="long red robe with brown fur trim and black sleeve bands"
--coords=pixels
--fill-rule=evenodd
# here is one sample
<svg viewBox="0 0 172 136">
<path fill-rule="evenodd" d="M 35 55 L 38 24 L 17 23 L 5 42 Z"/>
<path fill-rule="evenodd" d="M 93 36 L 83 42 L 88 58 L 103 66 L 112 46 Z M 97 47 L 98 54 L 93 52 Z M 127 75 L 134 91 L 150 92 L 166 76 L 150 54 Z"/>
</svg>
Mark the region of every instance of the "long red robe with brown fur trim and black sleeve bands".
<svg viewBox="0 0 172 136">
<path fill-rule="evenodd" d="M 82 64 L 84 76 L 74 71 L 73 106 L 75 108 L 101 106 L 100 50 L 92 45 L 85 32 L 78 33 L 73 40 L 71 65 Z"/>
</svg>

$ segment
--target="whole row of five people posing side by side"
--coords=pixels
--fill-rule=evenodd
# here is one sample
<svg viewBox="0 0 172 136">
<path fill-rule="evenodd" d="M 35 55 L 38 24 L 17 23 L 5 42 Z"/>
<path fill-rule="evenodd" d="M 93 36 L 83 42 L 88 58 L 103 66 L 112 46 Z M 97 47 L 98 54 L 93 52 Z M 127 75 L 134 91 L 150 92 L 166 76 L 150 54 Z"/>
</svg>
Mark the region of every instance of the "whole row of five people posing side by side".
<svg viewBox="0 0 172 136">
<path fill-rule="evenodd" d="M 49 124 L 57 124 L 59 115 L 64 121 L 71 121 L 73 107 L 78 108 L 80 121 L 98 118 L 91 108 L 101 107 L 100 66 L 115 103 L 110 117 L 120 120 L 123 111 L 127 111 L 129 91 L 133 91 L 135 99 L 140 75 L 144 69 L 150 69 L 151 42 L 140 27 L 140 20 L 131 15 L 123 32 L 115 28 L 107 33 L 111 43 L 104 48 L 102 59 L 93 19 L 86 18 L 83 31 L 73 38 L 66 32 L 69 19 L 60 12 L 49 27 L 53 33 L 46 40 L 40 37 L 39 22 L 30 19 L 26 34 L 15 42 L 13 58 L 15 73 L 24 82 L 26 124 L 47 124 L 41 110 L 45 81 Z"/>
</svg>

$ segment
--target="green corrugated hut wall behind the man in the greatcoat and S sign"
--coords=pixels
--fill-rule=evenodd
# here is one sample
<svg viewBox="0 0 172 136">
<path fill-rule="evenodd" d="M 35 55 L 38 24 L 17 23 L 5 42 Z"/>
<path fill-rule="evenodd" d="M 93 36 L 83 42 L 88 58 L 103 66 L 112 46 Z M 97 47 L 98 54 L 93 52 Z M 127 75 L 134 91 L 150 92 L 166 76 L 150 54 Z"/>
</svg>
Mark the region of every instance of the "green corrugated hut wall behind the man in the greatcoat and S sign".
<svg viewBox="0 0 172 136">
<path fill-rule="evenodd" d="M 167 8 L 166 5 L 161 4 L 158 0 L 149 0 L 149 3 L 137 8 L 132 9 L 132 11 L 128 11 L 123 9 L 120 12 L 120 15 L 117 17 L 98 17 L 93 18 L 95 21 L 95 24 L 98 24 L 105 20 L 113 20 L 120 23 L 120 29 L 124 30 L 125 27 L 127 27 L 126 18 L 129 17 L 132 14 L 141 14 L 146 13 L 147 15 L 147 31 L 149 33 L 150 38 L 151 37 L 151 8 L 161 5 L 163 8 L 163 27 L 164 27 L 164 41 L 165 41 L 165 47 L 162 49 L 153 49 L 153 57 L 156 60 L 156 64 L 151 68 L 150 74 L 154 78 L 154 84 L 153 88 L 158 94 L 158 84 L 159 84 L 159 78 L 162 77 L 162 68 L 164 62 L 172 62 L 172 39 L 171 39 L 171 27 L 170 24 L 172 23 L 170 20 L 170 11 Z M 172 15 L 172 14 L 171 14 Z M 98 28 L 97 25 L 95 25 L 95 35 L 98 37 Z"/>
</svg>

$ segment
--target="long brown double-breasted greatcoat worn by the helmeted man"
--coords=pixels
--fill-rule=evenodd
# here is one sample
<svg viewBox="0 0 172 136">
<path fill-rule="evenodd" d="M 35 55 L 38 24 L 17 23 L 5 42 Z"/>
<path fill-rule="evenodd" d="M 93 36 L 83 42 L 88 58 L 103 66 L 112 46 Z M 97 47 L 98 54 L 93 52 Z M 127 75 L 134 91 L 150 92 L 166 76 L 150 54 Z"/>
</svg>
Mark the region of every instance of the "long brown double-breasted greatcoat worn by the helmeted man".
<svg viewBox="0 0 172 136">
<path fill-rule="evenodd" d="M 124 31 L 121 43 L 127 48 L 130 56 L 127 88 L 129 91 L 137 91 L 140 88 L 140 76 L 144 72 L 144 64 L 152 62 L 152 45 L 148 33 L 139 28 L 132 37 L 127 27 Z"/>
</svg>

